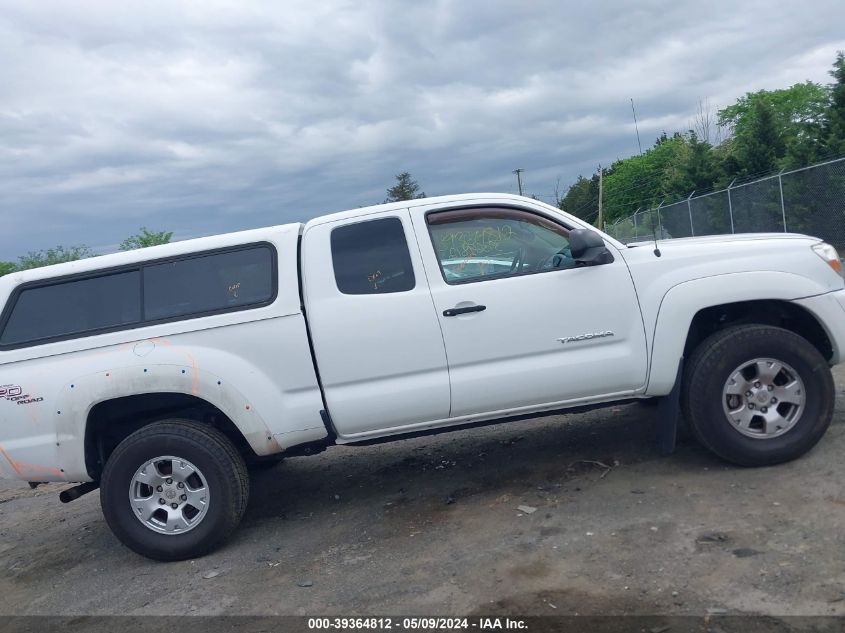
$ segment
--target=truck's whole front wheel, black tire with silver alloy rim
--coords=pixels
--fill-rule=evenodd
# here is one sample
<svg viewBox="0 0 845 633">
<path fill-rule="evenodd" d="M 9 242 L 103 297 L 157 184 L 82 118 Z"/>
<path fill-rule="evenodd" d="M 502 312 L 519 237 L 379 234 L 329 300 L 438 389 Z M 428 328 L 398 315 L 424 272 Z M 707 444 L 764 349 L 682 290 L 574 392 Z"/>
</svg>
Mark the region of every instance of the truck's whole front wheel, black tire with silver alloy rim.
<svg viewBox="0 0 845 633">
<path fill-rule="evenodd" d="M 815 446 L 830 425 L 835 390 L 827 362 L 806 339 L 741 325 L 698 346 L 681 397 L 702 444 L 735 464 L 765 466 Z"/>
</svg>

